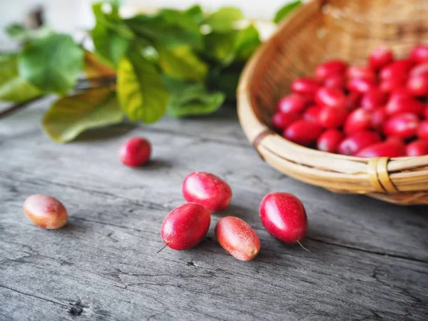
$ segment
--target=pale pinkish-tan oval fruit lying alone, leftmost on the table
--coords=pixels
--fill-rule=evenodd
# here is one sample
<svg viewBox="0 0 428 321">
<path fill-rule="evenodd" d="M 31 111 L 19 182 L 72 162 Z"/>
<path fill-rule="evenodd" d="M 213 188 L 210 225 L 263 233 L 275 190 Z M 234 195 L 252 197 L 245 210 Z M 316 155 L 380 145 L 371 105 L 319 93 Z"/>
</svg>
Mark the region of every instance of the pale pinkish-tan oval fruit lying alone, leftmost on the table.
<svg viewBox="0 0 428 321">
<path fill-rule="evenodd" d="M 41 228 L 54 230 L 67 223 L 67 210 L 64 205 L 49 195 L 35 194 L 26 198 L 24 213 Z"/>
</svg>

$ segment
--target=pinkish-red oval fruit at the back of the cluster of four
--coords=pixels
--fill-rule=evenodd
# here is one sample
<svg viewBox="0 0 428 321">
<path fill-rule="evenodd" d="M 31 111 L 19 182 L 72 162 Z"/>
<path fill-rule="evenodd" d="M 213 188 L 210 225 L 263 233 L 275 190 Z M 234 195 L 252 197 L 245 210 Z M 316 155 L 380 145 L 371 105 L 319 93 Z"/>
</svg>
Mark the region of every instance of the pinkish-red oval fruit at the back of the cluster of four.
<svg viewBox="0 0 428 321">
<path fill-rule="evenodd" d="M 228 207 L 232 190 L 228 183 L 211 173 L 193 172 L 185 177 L 183 196 L 188 202 L 203 205 L 208 210 L 218 212 Z"/>
</svg>

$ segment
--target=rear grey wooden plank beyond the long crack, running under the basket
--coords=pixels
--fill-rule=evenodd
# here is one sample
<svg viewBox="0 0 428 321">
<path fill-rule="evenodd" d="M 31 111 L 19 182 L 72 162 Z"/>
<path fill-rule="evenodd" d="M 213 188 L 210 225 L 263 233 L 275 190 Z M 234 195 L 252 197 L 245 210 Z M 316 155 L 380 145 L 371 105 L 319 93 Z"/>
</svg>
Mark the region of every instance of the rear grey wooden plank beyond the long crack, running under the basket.
<svg viewBox="0 0 428 321">
<path fill-rule="evenodd" d="M 153 132 L 143 127 L 134 128 L 125 136 L 111 136 L 96 143 L 86 139 L 58 145 L 41 134 L 35 115 L 34 118 L 31 125 L 28 119 L 4 121 L 11 133 L 0 141 L 6 156 L 1 161 L 0 175 L 56 184 L 58 190 L 71 185 L 141 202 L 157 200 L 168 212 L 183 201 L 180 183 L 185 175 L 193 170 L 208 170 L 226 178 L 232 185 L 233 210 L 250 223 L 259 223 L 258 205 L 263 195 L 283 190 L 295 193 L 305 203 L 310 217 L 309 238 L 428 261 L 428 238 L 425 236 L 428 220 L 424 215 L 427 207 L 387 205 L 365 196 L 337 195 L 297 182 L 260 161 L 244 138 L 239 144 L 201 138 L 198 133 L 208 126 L 200 126 L 198 121 L 188 120 L 182 126 L 193 128 L 192 135 Z M 168 120 L 159 124 L 168 130 L 171 127 Z M 221 126 L 217 121 L 213 124 L 209 128 L 217 128 L 217 135 Z M 24 126 L 25 129 L 21 128 Z M 239 128 L 238 123 L 235 126 Z M 16 128 L 15 136 L 12 128 Z M 154 153 L 151 165 L 133 170 L 119 164 L 118 146 L 131 135 L 151 140 Z"/>
</svg>

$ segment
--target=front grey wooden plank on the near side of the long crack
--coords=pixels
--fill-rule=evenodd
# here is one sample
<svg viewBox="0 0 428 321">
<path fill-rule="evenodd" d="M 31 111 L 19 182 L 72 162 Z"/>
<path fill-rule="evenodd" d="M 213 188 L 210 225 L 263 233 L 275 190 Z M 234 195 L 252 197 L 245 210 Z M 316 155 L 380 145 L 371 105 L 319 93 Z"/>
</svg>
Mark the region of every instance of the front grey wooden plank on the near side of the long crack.
<svg viewBox="0 0 428 321">
<path fill-rule="evenodd" d="M 312 240 L 307 253 L 260 225 L 262 251 L 250 263 L 227 255 L 213 226 L 194 250 L 156 255 L 162 205 L 64 187 L 70 222 L 49 231 L 24 218 L 19 195 L 54 194 L 56 185 L 2 178 L 0 186 L 1 310 L 19 320 L 26 305 L 39 320 L 67 319 L 73 305 L 90 320 L 422 320 L 428 313 L 427 263 Z M 33 300 L 17 300 L 19 292 Z"/>
</svg>

